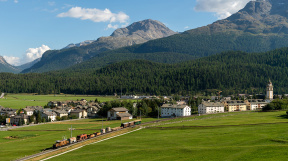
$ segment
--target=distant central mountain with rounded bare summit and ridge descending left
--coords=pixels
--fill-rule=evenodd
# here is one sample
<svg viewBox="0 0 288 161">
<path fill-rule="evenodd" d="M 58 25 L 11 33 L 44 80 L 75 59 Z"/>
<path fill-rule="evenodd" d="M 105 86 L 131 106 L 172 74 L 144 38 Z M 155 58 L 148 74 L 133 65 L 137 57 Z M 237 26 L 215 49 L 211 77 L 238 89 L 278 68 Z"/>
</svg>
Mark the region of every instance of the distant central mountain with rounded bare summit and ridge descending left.
<svg viewBox="0 0 288 161">
<path fill-rule="evenodd" d="M 174 31 L 159 21 L 148 19 L 135 22 L 126 28 L 115 30 L 109 37 L 101 37 L 87 45 L 47 51 L 38 63 L 24 70 L 23 73 L 64 69 L 88 60 L 104 51 L 140 44 L 174 34 L 176 34 Z"/>
</svg>

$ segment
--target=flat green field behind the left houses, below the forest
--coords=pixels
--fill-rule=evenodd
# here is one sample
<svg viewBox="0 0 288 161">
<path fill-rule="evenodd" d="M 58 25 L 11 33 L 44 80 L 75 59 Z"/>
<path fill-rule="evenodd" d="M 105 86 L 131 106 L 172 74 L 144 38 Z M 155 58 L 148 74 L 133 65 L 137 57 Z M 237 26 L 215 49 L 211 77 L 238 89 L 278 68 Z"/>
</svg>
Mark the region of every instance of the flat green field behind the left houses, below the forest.
<svg viewBox="0 0 288 161">
<path fill-rule="evenodd" d="M 116 97 L 92 96 L 92 95 L 33 95 L 33 94 L 7 94 L 4 99 L 0 99 L 0 105 L 13 109 L 25 108 L 26 106 L 44 106 L 49 101 L 76 101 L 86 99 L 94 101 L 98 99 L 101 102 L 116 100 Z"/>
</svg>

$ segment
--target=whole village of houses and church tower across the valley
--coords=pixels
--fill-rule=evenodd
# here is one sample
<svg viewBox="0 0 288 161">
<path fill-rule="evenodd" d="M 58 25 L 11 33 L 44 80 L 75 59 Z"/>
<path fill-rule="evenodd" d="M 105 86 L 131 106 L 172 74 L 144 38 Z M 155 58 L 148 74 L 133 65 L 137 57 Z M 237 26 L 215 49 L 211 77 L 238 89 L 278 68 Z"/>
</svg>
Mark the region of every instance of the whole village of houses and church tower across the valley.
<svg viewBox="0 0 288 161">
<path fill-rule="evenodd" d="M 215 96 L 208 100 L 203 99 L 198 106 L 197 114 L 260 110 L 273 100 L 273 84 L 271 81 L 269 81 L 266 89 L 266 99 L 231 100 L 231 97 L 219 99 L 220 97 Z M 125 96 L 124 98 L 131 99 L 135 97 Z M 141 98 L 159 99 L 159 97 L 148 96 L 142 96 Z M 158 117 L 186 117 L 192 115 L 187 98 L 183 97 L 173 103 L 170 100 L 171 98 L 164 98 L 164 102 L 158 110 Z M 105 102 L 100 103 L 97 100 L 87 101 L 85 99 L 62 102 L 50 101 L 45 107 L 27 106 L 20 110 L 0 107 L 0 115 L 6 116 L 6 126 L 21 126 L 69 119 L 102 117 L 98 115 L 98 112 L 104 105 Z M 137 103 L 133 103 L 133 108 L 137 108 Z M 135 117 L 135 114 L 129 113 L 129 110 L 125 107 L 114 107 L 107 111 L 107 120 L 129 120 L 133 117 Z"/>
</svg>

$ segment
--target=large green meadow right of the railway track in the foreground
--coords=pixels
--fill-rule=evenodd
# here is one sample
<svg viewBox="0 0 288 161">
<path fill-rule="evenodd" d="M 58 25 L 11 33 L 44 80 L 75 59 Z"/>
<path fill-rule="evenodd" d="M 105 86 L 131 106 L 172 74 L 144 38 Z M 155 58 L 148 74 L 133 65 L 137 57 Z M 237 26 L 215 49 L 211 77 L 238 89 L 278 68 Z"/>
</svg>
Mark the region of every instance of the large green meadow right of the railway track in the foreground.
<svg viewBox="0 0 288 161">
<path fill-rule="evenodd" d="M 287 160 L 285 112 L 217 114 L 185 121 L 189 119 L 88 145 L 53 160 Z"/>
</svg>

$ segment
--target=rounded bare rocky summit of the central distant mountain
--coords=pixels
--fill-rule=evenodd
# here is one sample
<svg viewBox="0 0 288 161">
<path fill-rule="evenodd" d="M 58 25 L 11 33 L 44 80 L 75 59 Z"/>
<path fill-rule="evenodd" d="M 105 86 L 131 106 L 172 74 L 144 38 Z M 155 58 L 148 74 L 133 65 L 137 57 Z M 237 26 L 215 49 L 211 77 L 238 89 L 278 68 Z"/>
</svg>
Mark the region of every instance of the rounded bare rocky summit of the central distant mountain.
<svg viewBox="0 0 288 161">
<path fill-rule="evenodd" d="M 162 37 L 167 37 L 175 34 L 174 31 L 170 30 L 163 23 L 156 20 L 143 20 L 135 22 L 128 27 L 120 28 L 112 33 L 112 37 L 129 37 L 139 36 L 146 40 L 152 40 Z"/>
</svg>

